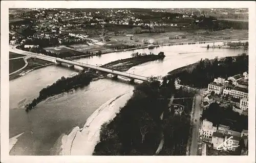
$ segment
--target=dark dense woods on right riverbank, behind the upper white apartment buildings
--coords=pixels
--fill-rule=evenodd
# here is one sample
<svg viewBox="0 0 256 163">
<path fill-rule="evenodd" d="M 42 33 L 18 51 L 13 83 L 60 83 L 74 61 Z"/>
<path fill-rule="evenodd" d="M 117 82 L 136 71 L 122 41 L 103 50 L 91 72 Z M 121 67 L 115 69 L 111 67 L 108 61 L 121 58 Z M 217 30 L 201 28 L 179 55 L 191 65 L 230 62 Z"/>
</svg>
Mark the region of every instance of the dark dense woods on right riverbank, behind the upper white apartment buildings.
<svg viewBox="0 0 256 163">
<path fill-rule="evenodd" d="M 248 55 L 245 53 L 237 57 L 215 58 L 212 61 L 201 59 L 192 71 L 185 70 L 172 76 L 180 78 L 183 85 L 198 88 L 207 87 L 215 78 L 222 77 L 227 79 L 230 76 L 248 71 L 248 61 Z"/>
</svg>

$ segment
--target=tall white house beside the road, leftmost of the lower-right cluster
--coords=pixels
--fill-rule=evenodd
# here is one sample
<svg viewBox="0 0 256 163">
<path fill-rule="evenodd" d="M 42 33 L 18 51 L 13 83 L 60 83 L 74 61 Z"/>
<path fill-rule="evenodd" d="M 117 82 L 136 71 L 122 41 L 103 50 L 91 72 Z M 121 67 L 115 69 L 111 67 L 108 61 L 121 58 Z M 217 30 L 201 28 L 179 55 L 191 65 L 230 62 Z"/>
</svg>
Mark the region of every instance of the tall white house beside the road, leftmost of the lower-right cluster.
<svg viewBox="0 0 256 163">
<path fill-rule="evenodd" d="M 214 132 L 217 131 L 217 126 L 213 126 L 212 122 L 203 120 L 202 127 L 200 129 L 200 137 L 203 141 L 211 142 L 211 137 Z"/>
</svg>

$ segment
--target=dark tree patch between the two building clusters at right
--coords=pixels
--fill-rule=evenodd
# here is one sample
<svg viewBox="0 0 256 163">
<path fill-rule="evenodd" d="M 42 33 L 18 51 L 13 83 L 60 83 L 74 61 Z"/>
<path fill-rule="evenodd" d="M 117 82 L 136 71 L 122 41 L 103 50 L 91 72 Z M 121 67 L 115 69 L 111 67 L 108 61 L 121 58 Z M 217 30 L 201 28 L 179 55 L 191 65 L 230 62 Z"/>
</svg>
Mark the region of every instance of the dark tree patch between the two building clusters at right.
<svg viewBox="0 0 256 163">
<path fill-rule="evenodd" d="M 207 119 L 216 125 L 229 126 L 231 130 L 241 132 L 248 130 L 248 116 L 234 112 L 231 107 L 220 107 L 217 103 L 210 104 L 209 108 L 203 111 L 202 120 Z"/>
</svg>

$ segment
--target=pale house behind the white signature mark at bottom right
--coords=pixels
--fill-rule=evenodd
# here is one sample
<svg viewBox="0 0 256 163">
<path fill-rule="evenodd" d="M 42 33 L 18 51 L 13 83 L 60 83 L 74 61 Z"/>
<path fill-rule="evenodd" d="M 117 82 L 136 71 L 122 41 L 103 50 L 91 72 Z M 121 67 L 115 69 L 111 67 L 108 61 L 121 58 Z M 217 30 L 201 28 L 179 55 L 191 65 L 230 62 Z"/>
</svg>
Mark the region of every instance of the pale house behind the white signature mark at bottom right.
<svg viewBox="0 0 256 163">
<path fill-rule="evenodd" d="M 231 135 L 228 135 L 228 134 L 223 134 L 223 133 L 220 133 L 220 132 L 214 132 L 212 134 L 211 144 L 212 144 L 214 149 L 217 149 L 218 147 L 221 146 L 221 144 L 223 142 L 225 142 L 230 137 L 231 137 Z M 238 146 L 239 145 L 239 141 L 240 141 L 240 137 L 233 136 L 230 140 L 233 142 L 232 146 Z M 231 147 L 231 148 L 223 149 L 223 150 L 225 150 L 225 151 L 226 150 L 235 151 L 236 148 L 237 147 Z"/>
</svg>

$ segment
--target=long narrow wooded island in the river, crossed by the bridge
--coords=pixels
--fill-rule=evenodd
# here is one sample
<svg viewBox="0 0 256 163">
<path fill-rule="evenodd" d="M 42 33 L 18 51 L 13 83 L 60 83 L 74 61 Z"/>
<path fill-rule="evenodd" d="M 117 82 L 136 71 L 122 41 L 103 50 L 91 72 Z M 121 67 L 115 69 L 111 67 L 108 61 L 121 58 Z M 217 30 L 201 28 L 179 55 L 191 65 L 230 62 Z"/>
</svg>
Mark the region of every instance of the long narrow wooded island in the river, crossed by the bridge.
<svg viewBox="0 0 256 163">
<path fill-rule="evenodd" d="M 131 58 L 110 62 L 108 64 L 102 65 L 102 67 L 115 69 L 116 71 L 123 72 L 123 71 L 127 71 L 129 68 L 133 66 L 136 66 L 148 61 L 163 59 L 165 57 L 163 52 L 160 52 L 158 55 L 155 55 L 153 53 L 149 55 L 145 53 L 142 53 L 142 54 L 133 53 L 132 56 L 133 57 Z M 106 73 L 101 73 L 96 70 L 90 69 L 90 71 L 86 73 L 80 72 L 79 74 L 70 78 L 61 77 L 61 79 L 58 79 L 52 85 L 41 89 L 39 92 L 39 97 L 34 99 L 30 104 L 26 106 L 26 111 L 28 112 L 29 110 L 33 109 L 38 103 L 40 103 L 41 101 L 51 96 L 61 94 L 62 92 L 65 92 L 65 91 L 70 91 L 78 87 L 89 85 L 92 80 L 104 78 L 106 77 L 106 75 L 107 75 Z"/>
</svg>

